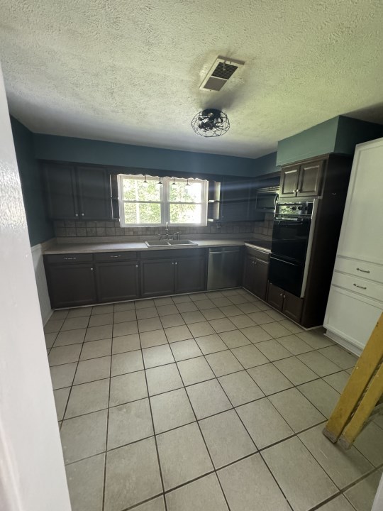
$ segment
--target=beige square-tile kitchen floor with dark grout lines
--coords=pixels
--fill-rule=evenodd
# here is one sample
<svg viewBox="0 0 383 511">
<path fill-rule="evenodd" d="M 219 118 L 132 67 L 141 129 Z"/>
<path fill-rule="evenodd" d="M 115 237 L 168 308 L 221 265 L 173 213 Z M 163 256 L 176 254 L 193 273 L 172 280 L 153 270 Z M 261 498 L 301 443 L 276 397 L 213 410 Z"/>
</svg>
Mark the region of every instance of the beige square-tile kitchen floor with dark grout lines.
<svg viewBox="0 0 383 511">
<path fill-rule="evenodd" d="M 370 511 L 383 421 L 321 434 L 355 357 L 242 289 L 54 312 L 73 511 Z"/>
</svg>

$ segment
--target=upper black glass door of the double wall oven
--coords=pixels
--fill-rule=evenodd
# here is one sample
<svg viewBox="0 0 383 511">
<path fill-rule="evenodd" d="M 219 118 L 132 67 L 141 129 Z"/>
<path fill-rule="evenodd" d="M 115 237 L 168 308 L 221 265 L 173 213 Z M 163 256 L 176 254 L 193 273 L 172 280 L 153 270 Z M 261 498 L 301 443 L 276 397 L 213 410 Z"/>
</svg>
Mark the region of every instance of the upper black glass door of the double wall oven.
<svg viewBox="0 0 383 511">
<path fill-rule="evenodd" d="M 310 226 L 311 219 L 275 219 L 272 226 L 272 254 L 304 263 Z"/>
</svg>

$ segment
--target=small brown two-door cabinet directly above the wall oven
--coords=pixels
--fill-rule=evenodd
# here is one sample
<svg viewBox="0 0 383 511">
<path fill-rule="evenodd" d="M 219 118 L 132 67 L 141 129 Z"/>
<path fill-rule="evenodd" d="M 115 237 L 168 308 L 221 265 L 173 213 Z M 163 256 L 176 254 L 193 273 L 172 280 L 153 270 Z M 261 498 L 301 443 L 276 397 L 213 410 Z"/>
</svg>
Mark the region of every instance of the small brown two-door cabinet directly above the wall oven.
<svg viewBox="0 0 383 511">
<path fill-rule="evenodd" d="M 321 194 L 323 160 L 282 167 L 279 197 L 316 197 Z"/>
</svg>

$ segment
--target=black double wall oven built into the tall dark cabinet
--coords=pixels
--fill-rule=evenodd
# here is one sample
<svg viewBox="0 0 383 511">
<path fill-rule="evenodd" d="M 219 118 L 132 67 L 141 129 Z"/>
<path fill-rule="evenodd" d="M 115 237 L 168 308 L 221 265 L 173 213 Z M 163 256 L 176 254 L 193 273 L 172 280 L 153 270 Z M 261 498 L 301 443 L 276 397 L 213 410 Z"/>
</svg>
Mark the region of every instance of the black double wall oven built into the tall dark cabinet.
<svg viewBox="0 0 383 511">
<path fill-rule="evenodd" d="M 269 280 L 297 297 L 304 297 L 316 200 L 277 202 L 274 216 Z"/>
</svg>

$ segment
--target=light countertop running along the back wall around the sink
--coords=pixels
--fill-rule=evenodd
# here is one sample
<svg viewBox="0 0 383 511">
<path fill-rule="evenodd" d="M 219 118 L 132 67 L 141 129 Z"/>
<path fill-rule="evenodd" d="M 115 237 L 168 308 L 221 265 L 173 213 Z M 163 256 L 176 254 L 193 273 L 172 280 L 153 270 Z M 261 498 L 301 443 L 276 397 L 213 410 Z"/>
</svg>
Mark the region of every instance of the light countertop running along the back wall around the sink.
<svg viewBox="0 0 383 511">
<path fill-rule="evenodd" d="M 56 241 L 50 244 L 43 253 L 45 255 L 63 254 L 63 253 L 97 253 L 97 252 L 128 252 L 128 251 L 153 251 L 153 250 L 178 250 L 179 248 L 211 248 L 223 246 L 250 246 L 259 250 L 270 253 L 270 241 L 259 239 L 203 239 L 192 240 L 197 245 L 178 245 L 178 246 L 158 246 L 148 247 L 144 241 L 131 241 L 131 242 L 99 242 L 99 243 L 57 243 Z"/>
</svg>

